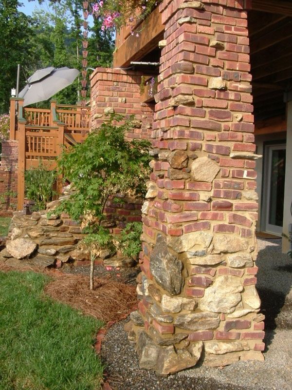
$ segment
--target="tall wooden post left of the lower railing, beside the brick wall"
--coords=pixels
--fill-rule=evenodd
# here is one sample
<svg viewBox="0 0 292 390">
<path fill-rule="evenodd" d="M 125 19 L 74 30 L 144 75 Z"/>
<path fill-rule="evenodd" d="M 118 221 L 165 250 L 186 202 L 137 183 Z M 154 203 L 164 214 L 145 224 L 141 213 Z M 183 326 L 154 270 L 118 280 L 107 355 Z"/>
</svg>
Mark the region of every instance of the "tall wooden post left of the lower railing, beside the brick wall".
<svg viewBox="0 0 292 390">
<path fill-rule="evenodd" d="M 25 120 L 18 120 L 18 199 L 17 209 L 23 209 L 24 202 L 24 172 L 25 172 Z"/>
</svg>

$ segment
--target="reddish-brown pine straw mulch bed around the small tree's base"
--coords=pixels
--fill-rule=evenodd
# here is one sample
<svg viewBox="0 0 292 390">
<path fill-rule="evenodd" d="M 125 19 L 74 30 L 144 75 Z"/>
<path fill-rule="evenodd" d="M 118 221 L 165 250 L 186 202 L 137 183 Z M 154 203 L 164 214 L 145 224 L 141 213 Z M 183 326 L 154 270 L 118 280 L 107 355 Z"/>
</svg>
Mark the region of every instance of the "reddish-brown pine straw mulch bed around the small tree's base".
<svg viewBox="0 0 292 390">
<path fill-rule="evenodd" d="M 34 271 L 44 273 L 53 280 L 44 292 L 53 299 L 80 310 L 83 314 L 104 321 L 108 327 L 124 319 L 136 309 L 137 296 L 134 286 L 104 278 L 94 278 L 94 290 L 89 289 L 89 277 L 62 273 L 58 270 L 44 270 L 37 267 L 23 267 L 20 270 L 0 262 L 0 271 Z"/>
</svg>

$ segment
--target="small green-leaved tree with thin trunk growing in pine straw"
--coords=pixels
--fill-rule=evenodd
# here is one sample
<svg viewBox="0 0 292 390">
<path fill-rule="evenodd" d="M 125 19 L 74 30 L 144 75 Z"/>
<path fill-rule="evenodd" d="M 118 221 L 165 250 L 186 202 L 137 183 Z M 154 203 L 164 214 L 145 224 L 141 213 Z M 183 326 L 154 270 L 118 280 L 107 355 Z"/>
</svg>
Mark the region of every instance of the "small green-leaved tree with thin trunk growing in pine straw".
<svg viewBox="0 0 292 390">
<path fill-rule="evenodd" d="M 133 120 L 132 116 L 112 114 L 83 143 L 64 150 L 58 160 L 60 172 L 75 191 L 55 212 L 65 211 L 73 219 L 82 221 L 83 231 L 87 233 L 83 244 L 91 251 L 92 284 L 95 257 L 102 248 L 113 245 L 109 230 L 102 227 L 107 200 L 111 197 L 114 201 L 115 195 L 121 194 L 135 197 L 146 194 L 150 142 L 126 139 L 126 133 L 133 128 Z M 121 201 L 120 196 L 116 199 Z M 133 244 L 131 251 L 137 252 L 136 246 Z"/>
</svg>

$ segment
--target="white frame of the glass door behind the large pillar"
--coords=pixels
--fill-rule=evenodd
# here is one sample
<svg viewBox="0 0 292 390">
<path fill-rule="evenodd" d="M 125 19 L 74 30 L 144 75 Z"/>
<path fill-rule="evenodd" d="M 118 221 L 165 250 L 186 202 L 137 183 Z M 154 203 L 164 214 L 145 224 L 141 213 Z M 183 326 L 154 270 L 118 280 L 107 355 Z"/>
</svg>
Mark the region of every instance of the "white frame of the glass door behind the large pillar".
<svg viewBox="0 0 292 390">
<path fill-rule="evenodd" d="M 281 148 L 282 146 L 282 148 Z M 275 235 L 281 235 L 283 227 L 277 227 L 275 225 L 270 225 L 268 223 L 268 212 L 270 205 L 270 190 L 271 190 L 271 159 L 270 153 L 272 151 L 272 147 L 275 147 L 276 149 L 286 149 L 286 139 L 280 139 L 280 140 L 274 140 L 274 141 L 266 141 L 263 143 L 263 181 L 262 181 L 262 188 L 261 188 L 261 231 L 267 232 L 270 234 Z M 286 174 L 286 172 L 285 172 Z M 273 226 L 273 228 L 269 228 L 270 226 Z"/>
</svg>

